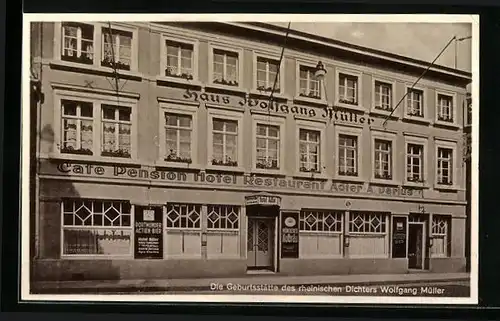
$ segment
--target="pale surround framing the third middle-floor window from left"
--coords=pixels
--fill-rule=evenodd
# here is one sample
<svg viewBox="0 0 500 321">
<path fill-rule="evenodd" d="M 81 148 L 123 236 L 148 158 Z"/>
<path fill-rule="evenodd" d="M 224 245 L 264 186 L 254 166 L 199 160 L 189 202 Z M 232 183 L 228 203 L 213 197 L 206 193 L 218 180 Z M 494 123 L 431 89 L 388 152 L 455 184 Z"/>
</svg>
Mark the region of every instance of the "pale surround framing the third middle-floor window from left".
<svg viewBox="0 0 500 321">
<path fill-rule="evenodd" d="M 167 134 L 165 133 L 165 113 L 173 113 L 180 115 L 191 116 L 191 163 L 167 161 L 166 158 L 166 140 Z M 198 106 L 172 103 L 160 101 L 159 103 L 159 148 L 158 148 L 158 162 L 173 168 L 197 168 L 199 167 L 198 159 Z"/>
</svg>

